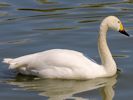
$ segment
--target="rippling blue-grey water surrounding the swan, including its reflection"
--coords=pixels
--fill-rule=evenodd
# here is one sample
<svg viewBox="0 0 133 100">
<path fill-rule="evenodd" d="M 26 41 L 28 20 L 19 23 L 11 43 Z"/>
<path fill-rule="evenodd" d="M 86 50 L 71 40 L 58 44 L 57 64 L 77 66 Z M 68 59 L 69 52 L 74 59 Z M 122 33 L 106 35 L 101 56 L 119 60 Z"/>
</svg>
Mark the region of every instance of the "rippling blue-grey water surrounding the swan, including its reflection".
<svg viewBox="0 0 133 100">
<path fill-rule="evenodd" d="M 118 16 L 131 37 L 110 31 L 108 44 L 121 70 L 112 78 L 88 81 L 16 76 L 0 63 L 2 100 L 125 100 L 133 97 L 132 0 L 0 0 L 0 62 L 52 48 L 83 52 L 100 63 L 101 20 Z"/>
</svg>

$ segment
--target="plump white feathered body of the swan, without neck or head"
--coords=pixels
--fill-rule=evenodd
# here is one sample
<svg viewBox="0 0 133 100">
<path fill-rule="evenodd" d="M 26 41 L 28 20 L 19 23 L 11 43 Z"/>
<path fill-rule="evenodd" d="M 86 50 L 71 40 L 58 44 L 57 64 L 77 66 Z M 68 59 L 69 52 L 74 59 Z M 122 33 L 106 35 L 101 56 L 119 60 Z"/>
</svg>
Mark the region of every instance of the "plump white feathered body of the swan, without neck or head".
<svg viewBox="0 0 133 100">
<path fill-rule="evenodd" d="M 80 52 L 65 49 L 52 49 L 26 55 L 11 62 L 11 69 L 18 68 L 23 74 L 45 78 L 87 79 L 100 77 L 106 73 L 104 67 L 87 59 Z"/>
</svg>

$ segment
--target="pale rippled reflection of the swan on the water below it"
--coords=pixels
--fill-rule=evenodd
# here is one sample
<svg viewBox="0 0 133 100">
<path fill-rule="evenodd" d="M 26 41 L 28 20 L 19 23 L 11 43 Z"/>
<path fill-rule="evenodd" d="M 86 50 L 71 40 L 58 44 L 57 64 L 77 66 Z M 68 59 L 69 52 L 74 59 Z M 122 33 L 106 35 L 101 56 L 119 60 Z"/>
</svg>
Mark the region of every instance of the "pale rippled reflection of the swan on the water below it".
<svg viewBox="0 0 133 100">
<path fill-rule="evenodd" d="M 25 77 L 25 78 L 24 78 Z M 92 80 L 56 80 L 56 79 L 31 79 L 27 76 L 17 76 L 15 80 L 9 80 L 11 85 L 26 90 L 38 91 L 39 95 L 48 97 L 48 100 L 94 100 L 89 98 L 89 92 L 94 89 L 102 90 L 103 100 L 113 100 L 113 86 L 116 84 L 117 75 L 110 78 L 98 78 Z M 78 94 L 86 92 L 87 97 Z M 101 92 L 101 91 L 100 91 Z M 77 94 L 77 95 L 76 95 Z M 76 96 L 75 96 L 76 95 Z"/>
</svg>

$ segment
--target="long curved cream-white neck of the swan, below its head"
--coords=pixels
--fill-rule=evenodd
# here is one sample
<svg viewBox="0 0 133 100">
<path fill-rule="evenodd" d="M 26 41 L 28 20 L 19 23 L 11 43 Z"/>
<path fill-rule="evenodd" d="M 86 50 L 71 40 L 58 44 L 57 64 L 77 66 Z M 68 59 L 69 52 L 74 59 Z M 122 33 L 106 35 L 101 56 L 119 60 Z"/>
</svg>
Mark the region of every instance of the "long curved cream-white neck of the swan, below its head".
<svg viewBox="0 0 133 100">
<path fill-rule="evenodd" d="M 106 33 L 108 25 L 105 21 L 100 26 L 100 32 L 98 37 L 98 50 L 101 58 L 102 65 L 105 67 L 108 75 L 116 73 L 116 63 L 111 55 L 106 41 Z"/>
</svg>

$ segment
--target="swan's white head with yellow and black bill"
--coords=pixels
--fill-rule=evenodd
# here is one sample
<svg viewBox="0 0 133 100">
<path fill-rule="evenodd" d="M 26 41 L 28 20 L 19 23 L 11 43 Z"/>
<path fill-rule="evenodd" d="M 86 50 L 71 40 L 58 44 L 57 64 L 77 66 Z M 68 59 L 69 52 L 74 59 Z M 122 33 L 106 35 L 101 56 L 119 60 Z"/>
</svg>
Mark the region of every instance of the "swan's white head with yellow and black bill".
<svg viewBox="0 0 133 100">
<path fill-rule="evenodd" d="M 119 31 L 120 33 L 129 36 L 129 34 L 125 31 L 122 22 L 115 16 L 108 16 L 104 19 L 109 28 L 113 30 Z"/>
</svg>

